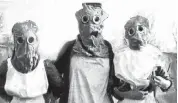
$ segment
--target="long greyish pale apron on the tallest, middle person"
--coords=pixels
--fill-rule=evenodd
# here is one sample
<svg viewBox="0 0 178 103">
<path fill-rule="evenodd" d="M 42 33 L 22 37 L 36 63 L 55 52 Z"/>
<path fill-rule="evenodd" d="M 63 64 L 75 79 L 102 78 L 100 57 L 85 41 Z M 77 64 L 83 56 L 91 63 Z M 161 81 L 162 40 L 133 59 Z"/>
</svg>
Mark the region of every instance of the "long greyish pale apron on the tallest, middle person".
<svg viewBox="0 0 178 103">
<path fill-rule="evenodd" d="M 110 103 L 109 58 L 72 56 L 68 103 Z"/>
</svg>

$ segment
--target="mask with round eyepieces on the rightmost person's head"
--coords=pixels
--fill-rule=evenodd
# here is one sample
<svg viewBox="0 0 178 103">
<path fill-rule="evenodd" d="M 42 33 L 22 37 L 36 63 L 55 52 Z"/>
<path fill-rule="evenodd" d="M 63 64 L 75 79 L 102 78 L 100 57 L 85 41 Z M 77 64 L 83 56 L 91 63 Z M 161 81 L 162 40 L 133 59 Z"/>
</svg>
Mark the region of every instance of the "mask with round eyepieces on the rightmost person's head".
<svg viewBox="0 0 178 103">
<path fill-rule="evenodd" d="M 142 16 L 132 17 L 124 28 L 130 49 L 140 50 L 140 46 L 147 44 L 147 38 L 150 33 L 147 18 Z"/>
</svg>

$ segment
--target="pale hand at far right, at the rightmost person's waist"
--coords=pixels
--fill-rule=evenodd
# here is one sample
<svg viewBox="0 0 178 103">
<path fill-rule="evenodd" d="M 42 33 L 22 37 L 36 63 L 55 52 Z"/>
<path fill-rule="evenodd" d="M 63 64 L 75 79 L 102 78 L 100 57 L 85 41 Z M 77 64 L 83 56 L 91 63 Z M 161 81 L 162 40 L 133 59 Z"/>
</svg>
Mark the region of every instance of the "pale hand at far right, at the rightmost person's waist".
<svg viewBox="0 0 178 103">
<path fill-rule="evenodd" d="M 154 76 L 151 82 L 152 84 L 159 86 L 163 89 L 167 89 L 171 85 L 171 82 L 169 80 L 166 80 L 161 76 Z"/>
</svg>

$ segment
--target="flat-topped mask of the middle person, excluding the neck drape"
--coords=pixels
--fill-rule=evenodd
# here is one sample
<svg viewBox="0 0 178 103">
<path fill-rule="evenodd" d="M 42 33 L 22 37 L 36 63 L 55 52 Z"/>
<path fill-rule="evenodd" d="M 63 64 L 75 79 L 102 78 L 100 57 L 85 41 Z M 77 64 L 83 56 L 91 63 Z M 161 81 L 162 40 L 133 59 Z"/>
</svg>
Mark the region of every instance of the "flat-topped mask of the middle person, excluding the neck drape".
<svg viewBox="0 0 178 103">
<path fill-rule="evenodd" d="M 82 6 L 83 9 L 76 12 L 79 36 L 85 46 L 97 47 L 103 44 L 101 35 L 103 21 L 108 18 L 108 15 L 103 11 L 100 3 L 83 3 Z"/>
</svg>

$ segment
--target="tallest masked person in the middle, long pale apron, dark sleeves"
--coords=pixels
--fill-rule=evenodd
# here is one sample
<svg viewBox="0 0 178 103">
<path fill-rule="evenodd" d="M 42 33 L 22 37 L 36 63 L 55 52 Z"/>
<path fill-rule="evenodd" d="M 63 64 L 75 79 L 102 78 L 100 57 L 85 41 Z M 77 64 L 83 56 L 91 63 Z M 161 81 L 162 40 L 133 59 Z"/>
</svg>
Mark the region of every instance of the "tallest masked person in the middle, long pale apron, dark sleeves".
<svg viewBox="0 0 178 103">
<path fill-rule="evenodd" d="M 64 45 L 54 63 L 64 77 L 60 103 L 113 103 L 114 54 L 102 36 L 108 15 L 100 3 L 82 6 L 76 12 L 80 34 Z"/>
</svg>

